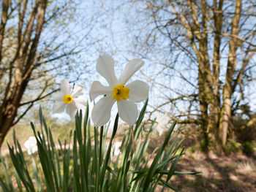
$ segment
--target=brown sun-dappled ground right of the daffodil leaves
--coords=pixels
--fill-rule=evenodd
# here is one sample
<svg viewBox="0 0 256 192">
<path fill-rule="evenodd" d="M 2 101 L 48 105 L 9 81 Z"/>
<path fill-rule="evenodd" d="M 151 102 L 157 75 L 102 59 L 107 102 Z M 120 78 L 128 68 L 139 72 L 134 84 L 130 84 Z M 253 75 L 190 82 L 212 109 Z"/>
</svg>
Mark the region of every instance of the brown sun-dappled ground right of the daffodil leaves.
<svg viewBox="0 0 256 192">
<path fill-rule="evenodd" d="M 173 185 L 186 192 L 256 191 L 256 158 L 241 154 L 217 156 L 213 153 L 187 153 L 178 163 L 178 171 L 202 174 L 173 178 Z"/>
</svg>

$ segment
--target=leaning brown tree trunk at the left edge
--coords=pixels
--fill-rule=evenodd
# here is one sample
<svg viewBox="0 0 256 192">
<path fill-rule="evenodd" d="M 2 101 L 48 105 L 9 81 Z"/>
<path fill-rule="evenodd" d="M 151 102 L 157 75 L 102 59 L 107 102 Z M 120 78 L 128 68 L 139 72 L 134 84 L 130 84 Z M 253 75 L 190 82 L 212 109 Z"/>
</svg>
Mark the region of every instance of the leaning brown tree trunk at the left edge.
<svg viewBox="0 0 256 192">
<path fill-rule="evenodd" d="M 7 3 L 4 1 L 3 12 L 7 11 Z M 21 2 L 21 1 L 20 1 Z M 26 9 L 26 2 L 24 1 L 24 10 Z M 9 66 L 9 81 L 5 87 L 4 98 L 1 100 L 0 105 L 0 147 L 4 142 L 4 138 L 7 132 L 15 124 L 15 118 L 18 113 L 18 107 L 20 107 L 20 101 L 23 97 L 23 93 L 30 81 L 31 73 L 36 68 L 34 63 L 37 46 L 39 43 L 39 37 L 42 32 L 43 25 L 45 23 L 45 9 L 47 6 L 47 0 L 37 0 L 31 12 L 30 19 L 27 23 L 27 28 L 23 32 L 22 26 L 24 24 L 23 13 L 20 13 L 19 9 L 19 33 L 18 39 L 23 39 L 22 42 L 18 42 L 19 46 L 16 50 L 14 60 Z M 20 15 L 21 14 L 21 15 Z M 23 15 L 23 16 L 22 16 Z M 2 14 L 1 20 L 5 15 Z M 0 26 L 0 53 L 1 53 L 1 41 L 4 34 L 4 25 Z M 2 29 L 3 28 L 3 29 Z M 1 55 L 0 55 L 1 56 Z M 1 64 L 1 57 L 0 57 Z M 29 108 L 28 108 L 29 109 Z M 26 112 L 24 112 L 26 114 Z M 19 119 L 18 119 L 19 120 Z"/>
</svg>

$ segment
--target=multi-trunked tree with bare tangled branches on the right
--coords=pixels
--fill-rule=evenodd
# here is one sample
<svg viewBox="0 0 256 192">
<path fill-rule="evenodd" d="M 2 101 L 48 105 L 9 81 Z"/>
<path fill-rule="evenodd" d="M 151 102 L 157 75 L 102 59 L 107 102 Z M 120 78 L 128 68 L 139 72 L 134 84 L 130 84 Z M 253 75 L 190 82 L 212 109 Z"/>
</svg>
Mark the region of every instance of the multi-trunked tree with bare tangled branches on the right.
<svg viewBox="0 0 256 192">
<path fill-rule="evenodd" d="M 232 116 L 244 104 L 253 106 L 248 99 L 255 93 L 249 88 L 255 85 L 256 4 L 247 0 L 130 4 L 137 9 L 127 18 L 128 26 L 133 24 L 132 53 L 157 65 L 154 75 L 145 72 L 158 96 L 154 111 L 171 111 L 180 123 L 200 125 L 204 148 L 212 142 L 222 152 L 233 134 Z"/>
</svg>

